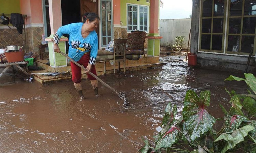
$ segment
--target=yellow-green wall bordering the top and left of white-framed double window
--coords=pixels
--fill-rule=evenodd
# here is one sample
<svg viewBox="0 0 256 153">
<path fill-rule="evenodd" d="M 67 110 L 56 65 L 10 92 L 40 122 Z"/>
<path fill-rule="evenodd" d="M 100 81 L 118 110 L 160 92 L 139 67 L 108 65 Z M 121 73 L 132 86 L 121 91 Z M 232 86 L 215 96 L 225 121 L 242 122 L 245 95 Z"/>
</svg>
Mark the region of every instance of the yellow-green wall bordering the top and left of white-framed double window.
<svg viewBox="0 0 256 153">
<path fill-rule="evenodd" d="M 146 0 L 140 0 L 140 2 L 137 0 L 121 0 L 121 21 L 123 22 L 123 26 L 127 25 L 127 3 L 150 6 L 150 3 L 147 3 Z"/>
</svg>

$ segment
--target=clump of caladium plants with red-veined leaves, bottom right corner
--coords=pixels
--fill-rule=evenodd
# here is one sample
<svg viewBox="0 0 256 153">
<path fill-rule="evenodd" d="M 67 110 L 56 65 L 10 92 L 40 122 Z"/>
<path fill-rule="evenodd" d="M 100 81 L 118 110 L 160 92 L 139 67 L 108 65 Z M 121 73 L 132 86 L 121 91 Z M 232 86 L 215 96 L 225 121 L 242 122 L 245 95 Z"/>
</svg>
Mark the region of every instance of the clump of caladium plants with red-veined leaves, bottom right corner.
<svg viewBox="0 0 256 153">
<path fill-rule="evenodd" d="M 226 80 L 245 81 L 249 90 L 248 94 L 240 95 L 226 90 L 231 107 L 227 111 L 220 104 L 219 109 L 225 114 L 221 129 L 214 129 L 213 126 L 221 119 L 216 120 L 207 112 L 210 91 L 203 91 L 198 96 L 193 90 L 188 90 L 182 116 L 175 119 L 177 106 L 172 107 L 169 103 L 162 120 L 162 130 L 155 136 L 155 146 L 148 146 L 149 143 L 144 140 L 146 145 L 139 151 L 225 153 L 239 150 L 256 153 L 256 121 L 252 120 L 256 114 L 256 78 L 253 74 L 245 74 L 245 79 L 230 75 Z M 190 148 L 184 147 L 184 144 Z"/>
</svg>

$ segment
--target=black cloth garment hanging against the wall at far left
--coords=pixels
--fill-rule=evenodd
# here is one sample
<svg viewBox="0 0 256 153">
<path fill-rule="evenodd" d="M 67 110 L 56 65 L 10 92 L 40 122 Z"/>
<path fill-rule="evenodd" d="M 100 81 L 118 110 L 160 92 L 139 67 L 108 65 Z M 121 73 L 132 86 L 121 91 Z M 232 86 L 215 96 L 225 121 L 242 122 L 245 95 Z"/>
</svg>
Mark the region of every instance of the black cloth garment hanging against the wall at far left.
<svg viewBox="0 0 256 153">
<path fill-rule="evenodd" d="M 17 28 L 17 31 L 22 34 L 24 20 L 22 14 L 19 13 L 11 13 L 11 20 L 10 23 L 13 27 Z"/>
</svg>

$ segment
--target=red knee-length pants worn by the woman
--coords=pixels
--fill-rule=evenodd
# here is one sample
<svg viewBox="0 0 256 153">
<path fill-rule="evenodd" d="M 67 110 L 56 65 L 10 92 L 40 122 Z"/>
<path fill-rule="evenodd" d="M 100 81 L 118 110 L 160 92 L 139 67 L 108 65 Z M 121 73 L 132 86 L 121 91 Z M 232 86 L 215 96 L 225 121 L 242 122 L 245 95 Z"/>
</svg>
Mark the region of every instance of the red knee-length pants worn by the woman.
<svg viewBox="0 0 256 153">
<path fill-rule="evenodd" d="M 77 61 L 77 63 L 79 63 L 80 65 L 83 65 L 86 68 L 88 66 L 89 60 L 90 60 L 90 54 L 88 53 L 88 54 L 84 54 L 81 57 L 81 59 Z M 70 62 L 70 65 L 71 65 L 71 71 L 72 71 L 72 81 L 74 83 L 80 83 L 81 77 L 82 77 L 81 67 L 77 66 L 72 61 Z M 91 73 L 97 76 L 95 65 L 91 66 Z M 96 80 L 96 78 L 94 78 L 90 74 L 87 74 L 87 78 L 90 80 Z"/>
</svg>

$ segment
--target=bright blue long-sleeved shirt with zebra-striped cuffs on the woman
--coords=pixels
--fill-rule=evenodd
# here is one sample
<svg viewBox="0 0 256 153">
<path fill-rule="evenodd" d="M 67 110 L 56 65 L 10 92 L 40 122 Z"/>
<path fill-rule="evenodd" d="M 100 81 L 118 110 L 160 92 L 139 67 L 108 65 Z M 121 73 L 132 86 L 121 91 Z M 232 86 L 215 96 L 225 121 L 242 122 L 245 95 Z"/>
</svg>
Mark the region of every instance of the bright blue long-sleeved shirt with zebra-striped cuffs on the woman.
<svg viewBox="0 0 256 153">
<path fill-rule="evenodd" d="M 95 64 L 98 53 L 98 36 L 95 31 L 91 31 L 86 37 L 82 37 L 83 23 L 71 23 L 58 29 L 53 37 L 56 44 L 63 34 L 69 35 L 69 54 L 68 56 L 74 61 L 79 61 L 85 53 L 90 53 L 89 64 Z"/>
</svg>

